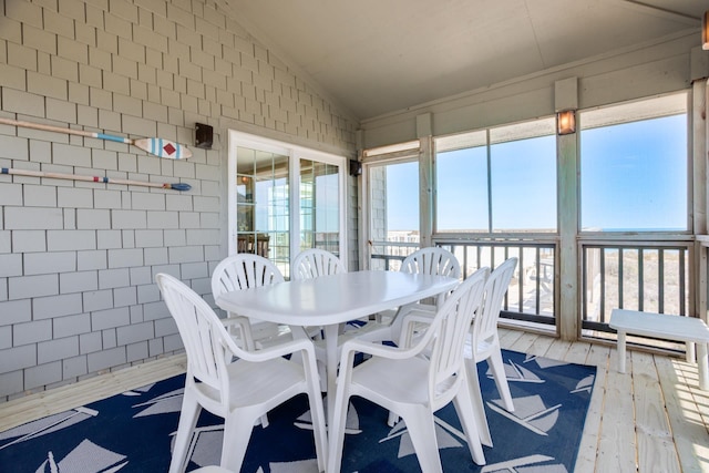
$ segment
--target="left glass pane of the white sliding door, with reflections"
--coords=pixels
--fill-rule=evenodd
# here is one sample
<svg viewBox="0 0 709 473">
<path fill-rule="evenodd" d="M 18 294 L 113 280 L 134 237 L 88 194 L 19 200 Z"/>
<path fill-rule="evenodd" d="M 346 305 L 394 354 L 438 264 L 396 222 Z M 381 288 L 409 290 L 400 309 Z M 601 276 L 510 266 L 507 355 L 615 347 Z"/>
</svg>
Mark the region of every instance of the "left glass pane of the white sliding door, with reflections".
<svg viewBox="0 0 709 473">
<path fill-rule="evenodd" d="M 236 250 L 269 258 L 287 273 L 289 157 L 242 146 L 236 153 Z"/>
</svg>

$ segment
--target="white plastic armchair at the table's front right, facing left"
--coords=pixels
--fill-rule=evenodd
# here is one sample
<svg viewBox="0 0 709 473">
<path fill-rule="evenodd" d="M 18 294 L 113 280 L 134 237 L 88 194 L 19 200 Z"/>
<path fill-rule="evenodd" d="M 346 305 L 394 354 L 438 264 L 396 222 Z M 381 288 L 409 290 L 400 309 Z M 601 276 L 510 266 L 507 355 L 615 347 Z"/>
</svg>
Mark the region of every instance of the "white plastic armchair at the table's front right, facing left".
<svg viewBox="0 0 709 473">
<path fill-rule="evenodd" d="M 480 269 L 461 284 L 432 321 L 427 317 L 431 325 L 410 348 L 360 339 L 343 345 L 329 430 L 328 472 L 340 469 L 347 408 L 353 395 L 395 412 L 405 421 L 423 473 L 442 471 L 433 414 L 453 401 L 473 461 L 479 465 L 485 463 L 463 363 L 463 345 L 471 319 L 481 305 L 487 274 L 487 268 Z M 415 315 L 408 316 L 407 323 L 415 322 Z M 356 352 L 369 353 L 372 358 L 353 367 Z"/>
</svg>

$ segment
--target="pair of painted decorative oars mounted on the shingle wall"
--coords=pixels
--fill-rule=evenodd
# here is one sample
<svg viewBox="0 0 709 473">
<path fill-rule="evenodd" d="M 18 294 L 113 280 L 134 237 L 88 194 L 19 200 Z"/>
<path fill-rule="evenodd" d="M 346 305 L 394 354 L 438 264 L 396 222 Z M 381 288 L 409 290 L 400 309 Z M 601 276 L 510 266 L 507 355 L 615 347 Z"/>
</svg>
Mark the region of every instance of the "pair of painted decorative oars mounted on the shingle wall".
<svg viewBox="0 0 709 473">
<path fill-rule="evenodd" d="M 104 133 L 61 128 L 59 126 L 43 125 L 43 124 L 32 123 L 32 122 L 21 122 L 18 120 L 10 120 L 10 119 L 2 119 L 2 117 L 0 117 L 0 124 L 132 144 L 150 154 L 154 154 L 155 156 L 160 156 L 160 157 L 167 157 L 171 160 L 186 160 L 192 156 L 192 152 L 187 150 L 185 146 L 181 145 L 179 143 L 174 143 L 163 138 L 131 140 L 122 136 L 106 135 Z M 18 176 L 32 176 L 32 177 L 48 177 L 48 178 L 54 178 L 54 179 L 88 181 L 88 182 L 104 183 L 104 184 L 111 183 L 111 184 L 124 184 L 124 185 L 133 185 L 133 186 L 160 187 L 160 188 L 174 189 L 174 191 L 189 191 L 192 188 L 189 184 L 185 184 L 185 183 L 161 184 L 161 183 L 150 183 L 145 181 L 117 179 L 117 178 L 105 177 L 105 176 L 83 176 L 80 174 L 45 173 L 41 171 L 16 169 L 12 167 L 0 168 L 0 174 L 13 174 Z"/>
</svg>

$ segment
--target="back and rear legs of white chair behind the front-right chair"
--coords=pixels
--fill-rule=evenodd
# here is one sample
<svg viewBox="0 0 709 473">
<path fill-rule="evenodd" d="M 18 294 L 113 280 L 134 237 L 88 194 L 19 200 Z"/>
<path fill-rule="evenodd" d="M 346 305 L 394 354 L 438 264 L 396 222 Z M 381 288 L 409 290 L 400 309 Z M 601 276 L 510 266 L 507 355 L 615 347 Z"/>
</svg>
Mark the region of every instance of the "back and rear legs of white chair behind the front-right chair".
<svg viewBox="0 0 709 473">
<path fill-rule="evenodd" d="M 473 320 L 470 336 L 465 342 L 465 364 L 470 382 L 476 384 L 480 391 L 476 364 L 487 360 L 500 397 L 505 409 L 510 412 L 514 411 L 514 404 L 505 374 L 505 366 L 502 361 L 497 321 L 502 309 L 502 298 L 507 292 L 516 266 L 517 258 L 511 257 L 491 273 L 485 284 L 482 309 Z"/>
</svg>

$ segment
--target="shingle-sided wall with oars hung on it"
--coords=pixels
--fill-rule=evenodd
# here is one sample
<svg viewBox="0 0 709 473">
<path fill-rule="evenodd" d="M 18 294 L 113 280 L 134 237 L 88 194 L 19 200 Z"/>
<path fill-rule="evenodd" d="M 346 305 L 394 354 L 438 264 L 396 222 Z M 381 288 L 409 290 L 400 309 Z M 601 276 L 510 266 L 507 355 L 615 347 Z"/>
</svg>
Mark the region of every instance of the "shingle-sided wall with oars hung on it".
<svg viewBox="0 0 709 473">
<path fill-rule="evenodd" d="M 153 277 L 169 273 L 212 300 L 210 270 L 226 254 L 219 135 L 229 126 L 353 153 L 356 124 L 255 44 L 225 7 L 0 3 L 0 116 L 157 136 L 194 153 L 161 160 L 121 143 L 0 125 L 1 167 L 192 186 L 0 175 L 0 401 L 182 348 Z M 195 122 L 214 126 L 214 150 L 192 146 Z"/>
</svg>

